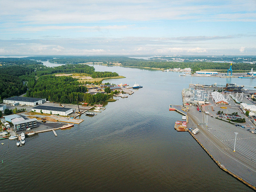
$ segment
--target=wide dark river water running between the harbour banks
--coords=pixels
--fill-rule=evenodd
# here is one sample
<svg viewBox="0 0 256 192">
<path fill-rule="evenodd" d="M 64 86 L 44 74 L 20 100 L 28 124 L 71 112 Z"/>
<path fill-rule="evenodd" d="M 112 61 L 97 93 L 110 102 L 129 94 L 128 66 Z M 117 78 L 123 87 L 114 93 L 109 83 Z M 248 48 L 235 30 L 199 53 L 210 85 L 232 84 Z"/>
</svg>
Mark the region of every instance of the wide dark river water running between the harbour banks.
<svg viewBox="0 0 256 192">
<path fill-rule="evenodd" d="M 254 79 L 189 77 L 180 73 L 94 65 L 96 71 L 126 76 L 105 82 L 135 81 L 143 88 L 109 102 L 97 116 L 70 129 L 41 133 L 16 147 L 2 140 L 0 191 L 252 191 L 218 168 L 188 132 L 170 104 L 182 104 L 190 82 L 237 83 Z"/>
</svg>

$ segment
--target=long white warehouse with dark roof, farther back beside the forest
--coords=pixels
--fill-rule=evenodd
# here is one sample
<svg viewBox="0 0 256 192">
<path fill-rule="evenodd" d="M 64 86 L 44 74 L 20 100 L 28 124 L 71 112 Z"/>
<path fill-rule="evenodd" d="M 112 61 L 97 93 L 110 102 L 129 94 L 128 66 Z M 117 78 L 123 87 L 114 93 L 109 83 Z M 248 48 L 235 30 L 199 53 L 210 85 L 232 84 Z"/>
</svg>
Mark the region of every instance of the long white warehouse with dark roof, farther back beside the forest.
<svg viewBox="0 0 256 192">
<path fill-rule="evenodd" d="M 25 104 L 29 106 L 35 106 L 35 105 L 43 104 L 44 102 L 46 102 L 46 99 L 15 96 L 15 97 L 4 99 L 3 101 L 4 103 L 12 103 L 12 104 L 19 103 L 20 105 Z"/>
</svg>

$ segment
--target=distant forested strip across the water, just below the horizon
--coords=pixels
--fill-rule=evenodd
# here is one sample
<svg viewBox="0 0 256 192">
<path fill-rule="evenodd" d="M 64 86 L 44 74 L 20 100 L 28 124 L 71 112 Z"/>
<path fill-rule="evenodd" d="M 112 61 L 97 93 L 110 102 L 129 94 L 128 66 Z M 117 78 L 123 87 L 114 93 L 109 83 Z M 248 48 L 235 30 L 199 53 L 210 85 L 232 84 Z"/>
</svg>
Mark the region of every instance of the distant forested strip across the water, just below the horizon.
<svg viewBox="0 0 256 192">
<path fill-rule="evenodd" d="M 160 59 L 163 59 L 163 58 L 170 58 L 170 57 L 161 57 Z M 205 57 L 189 57 L 189 58 L 203 59 Z M 73 56 L 72 57 L 70 56 L 65 58 L 55 58 L 55 59 L 52 58 L 49 61 L 54 63 L 63 63 L 63 64 L 102 62 L 103 64 L 111 65 L 113 63 L 121 63 L 122 66 L 164 68 L 164 69 L 189 67 L 189 68 L 192 68 L 193 71 L 199 71 L 204 69 L 227 70 L 230 67 L 229 62 L 223 63 L 223 62 L 206 62 L 206 61 L 189 61 L 189 60 L 186 60 L 184 62 L 175 62 L 175 61 L 165 61 L 160 59 L 144 60 L 144 59 L 135 59 L 135 58 L 119 57 L 119 56 L 116 56 L 116 57 L 107 57 L 107 56 L 89 56 L 89 57 Z M 213 60 L 216 60 L 216 59 L 213 59 Z M 233 70 L 246 70 L 246 69 L 250 70 L 254 66 L 255 64 L 237 62 L 237 63 L 233 63 L 232 69 Z"/>
</svg>

